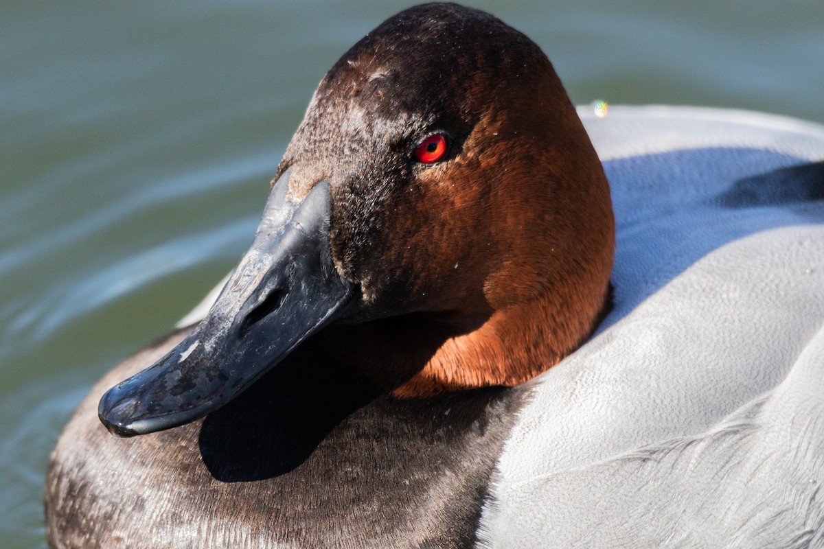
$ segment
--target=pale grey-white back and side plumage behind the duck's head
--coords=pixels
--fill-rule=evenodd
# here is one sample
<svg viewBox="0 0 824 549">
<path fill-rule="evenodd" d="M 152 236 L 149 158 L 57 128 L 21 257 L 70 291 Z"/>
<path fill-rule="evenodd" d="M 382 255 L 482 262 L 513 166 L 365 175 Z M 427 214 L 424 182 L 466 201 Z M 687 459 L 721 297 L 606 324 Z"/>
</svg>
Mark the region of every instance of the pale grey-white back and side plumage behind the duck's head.
<svg viewBox="0 0 824 549">
<path fill-rule="evenodd" d="M 824 546 L 824 201 L 748 204 L 736 184 L 824 160 L 824 128 L 581 114 L 616 208 L 615 309 L 531 382 L 483 542 Z"/>
</svg>

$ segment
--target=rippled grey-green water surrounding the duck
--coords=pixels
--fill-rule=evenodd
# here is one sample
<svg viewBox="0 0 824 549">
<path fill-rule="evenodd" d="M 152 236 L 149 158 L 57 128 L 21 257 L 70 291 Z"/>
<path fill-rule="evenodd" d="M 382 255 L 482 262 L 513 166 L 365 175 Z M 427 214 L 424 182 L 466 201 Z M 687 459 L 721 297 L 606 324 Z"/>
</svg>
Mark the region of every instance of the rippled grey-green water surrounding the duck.
<svg viewBox="0 0 824 549">
<path fill-rule="evenodd" d="M 824 122 L 824 2 L 680 4 L 472 2 L 541 44 L 578 103 Z M 44 547 L 73 407 L 232 267 L 317 81 L 408 5 L 3 2 L 0 547 Z"/>
</svg>

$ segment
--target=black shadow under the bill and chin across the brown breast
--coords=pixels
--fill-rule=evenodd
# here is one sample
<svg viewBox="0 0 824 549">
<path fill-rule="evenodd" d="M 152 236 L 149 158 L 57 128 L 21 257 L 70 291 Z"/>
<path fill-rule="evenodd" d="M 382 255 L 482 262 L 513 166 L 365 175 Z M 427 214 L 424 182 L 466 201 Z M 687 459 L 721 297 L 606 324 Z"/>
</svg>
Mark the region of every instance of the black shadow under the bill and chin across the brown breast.
<svg viewBox="0 0 824 549">
<path fill-rule="evenodd" d="M 292 472 L 354 412 L 418 373 L 454 333 L 416 314 L 325 328 L 206 416 L 199 433 L 206 468 L 222 482 Z"/>
</svg>

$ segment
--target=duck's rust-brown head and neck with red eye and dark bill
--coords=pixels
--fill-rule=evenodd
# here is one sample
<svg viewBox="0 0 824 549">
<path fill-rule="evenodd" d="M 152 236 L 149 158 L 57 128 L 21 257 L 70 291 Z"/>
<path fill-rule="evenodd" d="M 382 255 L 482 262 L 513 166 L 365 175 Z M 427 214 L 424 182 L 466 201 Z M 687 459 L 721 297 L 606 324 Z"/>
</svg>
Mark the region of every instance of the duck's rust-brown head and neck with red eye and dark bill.
<svg viewBox="0 0 824 549">
<path fill-rule="evenodd" d="M 193 421 L 319 331 L 398 397 L 522 383 L 592 332 L 614 237 L 601 164 L 541 49 L 485 12 L 410 8 L 323 78 L 213 308 L 105 393 L 101 421 Z"/>
</svg>

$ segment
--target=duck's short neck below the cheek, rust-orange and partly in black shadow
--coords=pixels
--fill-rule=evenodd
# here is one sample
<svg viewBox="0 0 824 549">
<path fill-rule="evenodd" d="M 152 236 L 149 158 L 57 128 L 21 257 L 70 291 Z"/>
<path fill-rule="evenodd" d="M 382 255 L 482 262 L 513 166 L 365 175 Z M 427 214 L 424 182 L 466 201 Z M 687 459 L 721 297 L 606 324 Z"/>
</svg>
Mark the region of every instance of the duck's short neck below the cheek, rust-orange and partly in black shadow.
<svg viewBox="0 0 824 549">
<path fill-rule="evenodd" d="M 606 312 L 606 293 L 564 300 L 547 293 L 473 318 L 408 314 L 340 325 L 324 333 L 324 347 L 400 398 L 513 386 L 579 347 Z M 570 315 L 570 301 L 585 314 Z"/>
</svg>

